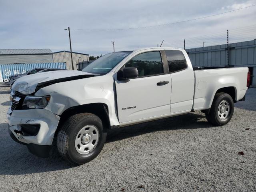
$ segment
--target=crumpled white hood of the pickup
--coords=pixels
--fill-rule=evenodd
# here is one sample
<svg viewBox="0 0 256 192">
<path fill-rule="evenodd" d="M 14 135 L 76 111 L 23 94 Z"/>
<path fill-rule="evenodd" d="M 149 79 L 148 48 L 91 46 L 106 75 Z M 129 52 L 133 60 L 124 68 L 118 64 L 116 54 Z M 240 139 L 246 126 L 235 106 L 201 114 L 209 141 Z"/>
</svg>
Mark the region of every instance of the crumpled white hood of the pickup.
<svg viewBox="0 0 256 192">
<path fill-rule="evenodd" d="M 34 93 L 39 85 L 43 86 L 45 84 L 47 86 L 58 82 L 87 78 L 94 75 L 96 74 L 75 70 L 36 73 L 18 78 L 12 86 L 12 90 L 28 95 Z"/>
</svg>

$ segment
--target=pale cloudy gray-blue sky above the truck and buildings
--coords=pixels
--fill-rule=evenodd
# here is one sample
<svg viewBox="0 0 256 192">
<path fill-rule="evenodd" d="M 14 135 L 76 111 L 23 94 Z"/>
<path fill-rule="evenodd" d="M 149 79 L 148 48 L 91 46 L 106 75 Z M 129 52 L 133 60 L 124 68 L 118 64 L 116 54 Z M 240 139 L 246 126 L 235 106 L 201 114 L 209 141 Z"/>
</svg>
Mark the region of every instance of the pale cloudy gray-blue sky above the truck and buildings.
<svg viewBox="0 0 256 192">
<path fill-rule="evenodd" d="M 256 4 L 256 0 L 0 0 L 0 48 L 69 50 L 68 32 L 75 29 L 114 29 L 152 26 L 189 20 Z M 243 29 L 236 29 L 242 28 Z M 119 30 L 71 30 L 72 49 L 90 55 L 138 47 L 187 48 L 256 38 L 256 6 L 206 19 L 166 26 Z M 233 30 L 234 29 L 234 30 Z M 212 35 L 209 35 L 212 34 Z M 255 36 L 255 37 L 254 37 Z M 194 38 L 198 37 L 198 38 Z M 192 39 L 190 39 L 192 38 Z"/>
</svg>

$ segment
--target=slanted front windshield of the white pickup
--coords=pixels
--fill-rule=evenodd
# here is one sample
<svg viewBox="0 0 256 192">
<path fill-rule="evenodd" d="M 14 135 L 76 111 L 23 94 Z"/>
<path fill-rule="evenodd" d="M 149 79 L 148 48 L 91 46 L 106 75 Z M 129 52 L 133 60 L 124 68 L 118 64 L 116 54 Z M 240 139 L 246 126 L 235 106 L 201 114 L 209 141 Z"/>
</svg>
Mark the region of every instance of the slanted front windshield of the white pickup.
<svg viewBox="0 0 256 192">
<path fill-rule="evenodd" d="M 122 61 L 126 56 L 128 56 L 132 51 L 122 51 L 108 53 L 90 65 L 86 66 L 82 71 L 94 74 L 104 75 L 110 72 L 120 61 Z"/>
</svg>

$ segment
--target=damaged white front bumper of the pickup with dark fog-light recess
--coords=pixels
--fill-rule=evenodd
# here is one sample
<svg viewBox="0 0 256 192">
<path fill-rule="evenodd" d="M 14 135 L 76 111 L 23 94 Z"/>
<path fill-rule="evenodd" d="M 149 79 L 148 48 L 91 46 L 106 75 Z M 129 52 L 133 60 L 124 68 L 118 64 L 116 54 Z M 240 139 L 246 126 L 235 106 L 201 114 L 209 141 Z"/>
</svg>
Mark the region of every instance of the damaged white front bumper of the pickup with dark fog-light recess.
<svg viewBox="0 0 256 192">
<path fill-rule="evenodd" d="M 46 109 L 12 111 L 11 108 L 6 116 L 13 140 L 26 144 L 37 156 L 48 156 L 60 116 Z"/>
</svg>

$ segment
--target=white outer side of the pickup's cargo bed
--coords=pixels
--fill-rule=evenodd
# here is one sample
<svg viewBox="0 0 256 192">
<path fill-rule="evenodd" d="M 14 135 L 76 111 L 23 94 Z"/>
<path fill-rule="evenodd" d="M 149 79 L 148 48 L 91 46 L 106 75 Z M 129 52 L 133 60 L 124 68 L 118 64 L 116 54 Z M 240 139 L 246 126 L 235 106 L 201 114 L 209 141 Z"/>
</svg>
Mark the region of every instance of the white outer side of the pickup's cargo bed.
<svg viewBox="0 0 256 192">
<path fill-rule="evenodd" d="M 195 90 L 193 110 L 210 108 L 215 93 L 224 87 L 234 91 L 234 100 L 244 97 L 247 90 L 247 67 L 204 67 L 194 69 Z"/>
</svg>

